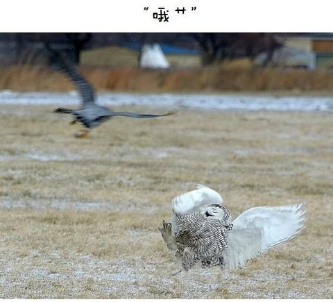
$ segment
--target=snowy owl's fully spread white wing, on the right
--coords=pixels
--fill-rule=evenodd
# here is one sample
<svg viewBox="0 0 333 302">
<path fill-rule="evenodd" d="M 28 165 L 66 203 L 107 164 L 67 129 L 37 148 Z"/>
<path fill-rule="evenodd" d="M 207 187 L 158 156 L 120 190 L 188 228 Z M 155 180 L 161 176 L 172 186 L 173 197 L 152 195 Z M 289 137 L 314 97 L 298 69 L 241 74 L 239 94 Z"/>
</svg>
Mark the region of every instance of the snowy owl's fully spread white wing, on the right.
<svg viewBox="0 0 333 302">
<path fill-rule="evenodd" d="M 306 220 L 302 206 L 257 207 L 239 215 L 228 235 L 225 267 L 243 267 L 248 260 L 299 235 Z"/>
</svg>

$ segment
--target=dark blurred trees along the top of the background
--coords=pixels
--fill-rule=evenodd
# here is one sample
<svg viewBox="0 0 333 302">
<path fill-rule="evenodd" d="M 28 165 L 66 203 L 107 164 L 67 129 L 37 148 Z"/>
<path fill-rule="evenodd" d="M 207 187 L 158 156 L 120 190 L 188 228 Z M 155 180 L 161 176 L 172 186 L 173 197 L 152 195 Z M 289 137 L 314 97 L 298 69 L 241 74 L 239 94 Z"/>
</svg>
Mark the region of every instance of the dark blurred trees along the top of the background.
<svg viewBox="0 0 333 302">
<path fill-rule="evenodd" d="M 273 33 L 2 33 L 0 42 L 16 42 L 18 56 L 31 45 L 47 43 L 65 49 L 72 60 L 80 62 L 84 49 L 107 45 L 164 43 L 196 49 L 202 53 L 203 65 L 232 58 L 255 58 L 266 52 L 268 63 L 280 43 Z"/>
</svg>

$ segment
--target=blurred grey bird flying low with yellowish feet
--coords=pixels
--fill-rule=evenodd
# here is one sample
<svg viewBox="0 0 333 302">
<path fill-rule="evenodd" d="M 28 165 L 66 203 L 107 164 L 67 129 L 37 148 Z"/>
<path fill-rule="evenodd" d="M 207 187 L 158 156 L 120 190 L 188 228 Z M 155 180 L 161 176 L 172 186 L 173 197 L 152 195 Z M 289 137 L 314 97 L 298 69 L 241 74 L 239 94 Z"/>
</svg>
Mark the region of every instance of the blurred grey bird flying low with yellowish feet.
<svg viewBox="0 0 333 302">
<path fill-rule="evenodd" d="M 111 117 L 134 117 L 137 119 L 149 119 L 154 117 L 165 117 L 167 115 L 173 115 L 174 112 L 168 112 L 164 115 L 152 115 L 146 113 L 137 112 L 122 112 L 122 111 L 112 111 L 107 107 L 97 105 L 95 103 L 94 88 L 92 85 L 78 73 L 76 66 L 72 64 L 64 53 L 58 51 L 52 51 L 53 56 L 57 56 L 57 61 L 60 64 L 60 70 L 65 71 L 67 76 L 70 78 L 71 82 L 76 85 L 80 97 L 82 99 L 82 104 L 77 110 L 68 108 L 58 108 L 54 110 L 56 113 L 66 113 L 74 116 L 73 121 L 70 124 L 76 124 L 80 121 L 85 127 L 81 131 L 78 137 L 85 138 L 89 133 L 89 129 L 99 126 L 104 121 L 107 121 Z"/>
</svg>

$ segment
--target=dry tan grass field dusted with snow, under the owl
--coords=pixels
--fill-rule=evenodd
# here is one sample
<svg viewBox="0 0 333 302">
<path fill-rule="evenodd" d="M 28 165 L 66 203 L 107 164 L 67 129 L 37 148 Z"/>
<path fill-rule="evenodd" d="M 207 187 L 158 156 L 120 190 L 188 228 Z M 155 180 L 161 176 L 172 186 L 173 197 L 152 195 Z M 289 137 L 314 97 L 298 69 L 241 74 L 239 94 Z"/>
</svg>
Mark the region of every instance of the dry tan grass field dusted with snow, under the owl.
<svg viewBox="0 0 333 302">
<path fill-rule="evenodd" d="M 182 109 L 80 140 L 51 109 L 0 106 L 1 299 L 333 298 L 332 114 Z M 196 183 L 233 217 L 307 201 L 307 229 L 245 269 L 171 277 L 157 227 Z"/>
</svg>

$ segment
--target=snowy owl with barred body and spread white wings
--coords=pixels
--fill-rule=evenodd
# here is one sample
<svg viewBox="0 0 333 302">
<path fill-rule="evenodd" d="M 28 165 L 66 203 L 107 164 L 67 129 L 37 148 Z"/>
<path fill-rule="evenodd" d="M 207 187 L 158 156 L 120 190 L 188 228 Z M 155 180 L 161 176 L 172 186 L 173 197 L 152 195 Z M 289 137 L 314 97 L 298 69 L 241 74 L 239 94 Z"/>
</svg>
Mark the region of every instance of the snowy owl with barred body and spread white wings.
<svg viewBox="0 0 333 302">
<path fill-rule="evenodd" d="M 302 204 L 250 208 L 232 221 L 221 195 L 205 185 L 196 185 L 171 203 L 173 217 L 159 230 L 168 249 L 176 251 L 176 274 L 197 262 L 203 267 L 244 267 L 305 228 Z"/>
</svg>

